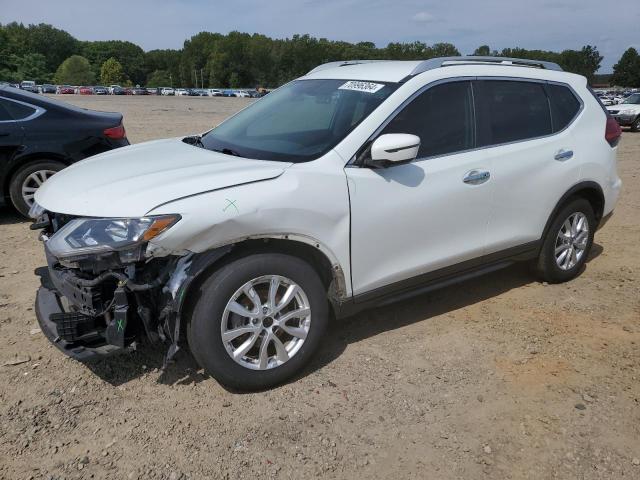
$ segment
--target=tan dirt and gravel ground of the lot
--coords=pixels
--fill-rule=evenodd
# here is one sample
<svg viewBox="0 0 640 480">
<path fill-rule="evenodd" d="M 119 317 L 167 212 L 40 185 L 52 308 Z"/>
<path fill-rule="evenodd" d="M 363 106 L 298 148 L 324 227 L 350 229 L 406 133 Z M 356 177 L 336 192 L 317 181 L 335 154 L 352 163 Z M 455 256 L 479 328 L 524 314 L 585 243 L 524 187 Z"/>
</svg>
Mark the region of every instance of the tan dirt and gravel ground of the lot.
<svg viewBox="0 0 640 480">
<path fill-rule="evenodd" d="M 132 142 L 203 131 L 245 99 L 78 97 Z M 237 394 L 188 353 L 85 366 L 39 332 L 44 265 L 0 209 L 0 478 L 640 478 L 640 133 L 584 273 L 525 265 L 334 322 L 291 383 Z M 20 361 L 23 363 L 14 364 Z"/>
</svg>

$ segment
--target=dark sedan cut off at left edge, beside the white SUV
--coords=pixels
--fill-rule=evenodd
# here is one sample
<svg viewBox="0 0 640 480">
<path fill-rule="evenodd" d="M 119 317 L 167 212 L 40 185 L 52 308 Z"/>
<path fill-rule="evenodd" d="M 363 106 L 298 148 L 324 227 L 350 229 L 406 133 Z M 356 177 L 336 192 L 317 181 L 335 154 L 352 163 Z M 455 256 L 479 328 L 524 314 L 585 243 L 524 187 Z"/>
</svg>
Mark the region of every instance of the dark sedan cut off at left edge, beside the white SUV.
<svg viewBox="0 0 640 480">
<path fill-rule="evenodd" d="M 0 203 L 26 216 L 35 192 L 53 174 L 128 144 L 119 113 L 0 87 Z"/>
</svg>

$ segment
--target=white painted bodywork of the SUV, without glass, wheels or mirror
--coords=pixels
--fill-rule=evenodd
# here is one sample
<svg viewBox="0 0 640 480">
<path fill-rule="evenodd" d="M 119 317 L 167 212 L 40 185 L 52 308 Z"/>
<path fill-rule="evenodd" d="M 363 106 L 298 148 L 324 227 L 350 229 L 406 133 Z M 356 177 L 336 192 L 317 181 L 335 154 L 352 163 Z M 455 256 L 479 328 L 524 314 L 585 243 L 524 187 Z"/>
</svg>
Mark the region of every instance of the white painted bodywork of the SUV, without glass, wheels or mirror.
<svg viewBox="0 0 640 480">
<path fill-rule="evenodd" d="M 368 63 L 323 69 L 305 78 L 398 82 L 418 64 Z M 451 77 L 562 82 L 578 93 L 584 108 L 570 128 L 546 138 L 384 170 L 347 166 L 410 96 Z M 615 148 L 605 141 L 604 129 L 605 114 L 583 77 L 516 66 L 458 65 L 408 79 L 314 161 L 292 165 L 217 154 L 179 140 L 150 142 L 65 169 L 38 191 L 36 201 L 50 211 L 83 216 L 180 214 L 175 226 L 153 240 L 151 250 L 158 255 L 203 252 L 247 238 L 304 241 L 344 272 L 348 295 L 361 294 L 540 239 L 557 202 L 579 182 L 600 186 L 604 213 L 609 213 L 620 179 Z M 572 149 L 573 158 L 554 160 L 561 149 Z M 471 170 L 488 171 L 490 179 L 463 183 Z"/>
</svg>

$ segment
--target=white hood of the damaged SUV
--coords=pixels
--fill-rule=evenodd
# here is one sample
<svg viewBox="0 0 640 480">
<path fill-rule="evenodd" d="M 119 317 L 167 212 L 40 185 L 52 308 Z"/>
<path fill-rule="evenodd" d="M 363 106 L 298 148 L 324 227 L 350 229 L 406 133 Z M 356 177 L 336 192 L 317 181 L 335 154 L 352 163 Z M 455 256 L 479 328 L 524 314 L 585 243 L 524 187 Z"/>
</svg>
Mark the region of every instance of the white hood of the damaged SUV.
<svg viewBox="0 0 640 480">
<path fill-rule="evenodd" d="M 142 217 L 178 198 L 276 178 L 290 165 L 211 152 L 180 139 L 157 140 L 65 168 L 37 190 L 35 200 L 57 213 Z"/>
</svg>

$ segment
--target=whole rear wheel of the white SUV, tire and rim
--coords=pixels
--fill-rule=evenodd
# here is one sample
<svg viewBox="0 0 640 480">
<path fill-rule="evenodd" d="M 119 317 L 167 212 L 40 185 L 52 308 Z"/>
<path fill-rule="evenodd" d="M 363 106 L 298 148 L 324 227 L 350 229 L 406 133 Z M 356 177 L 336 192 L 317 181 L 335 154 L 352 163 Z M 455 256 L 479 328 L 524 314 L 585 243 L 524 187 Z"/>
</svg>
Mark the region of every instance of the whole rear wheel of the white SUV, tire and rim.
<svg viewBox="0 0 640 480">
<path fill-rule="evenodd" d="M 568 228 L 572 225 L 577 229 Z M 577 277 L 589 257 L 596 227 L 591 204 L 584 198 L 569 200 L 553 219 L 542 243 L 536 264 L 541 279 L 562 283 Z"/>
</svg>

